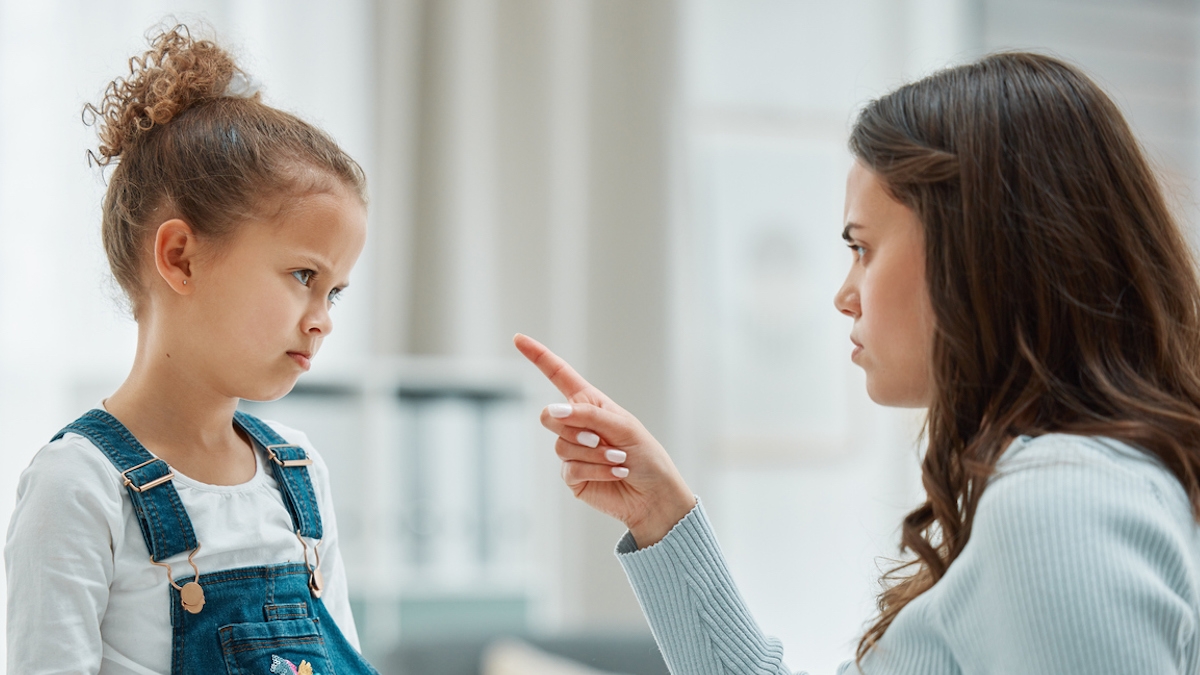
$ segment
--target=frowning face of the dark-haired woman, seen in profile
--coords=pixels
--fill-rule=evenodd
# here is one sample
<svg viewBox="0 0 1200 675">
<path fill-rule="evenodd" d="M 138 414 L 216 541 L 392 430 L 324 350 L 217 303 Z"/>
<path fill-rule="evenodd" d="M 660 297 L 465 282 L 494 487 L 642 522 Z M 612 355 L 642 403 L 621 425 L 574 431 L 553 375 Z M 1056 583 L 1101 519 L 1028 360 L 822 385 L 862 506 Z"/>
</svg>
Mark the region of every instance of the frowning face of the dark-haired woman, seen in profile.
<svg viewBox="0 0 1200 675">
<path fill-rule="evenodd" d="M 884 406 L 926 407 L 934 310 L 920 221 L 856 161 L 846 179 L 842 235 L 854 258 L 834 305 L 854 319 L 850 358 L 866 372 L 866 393 Z"/>
</svg>

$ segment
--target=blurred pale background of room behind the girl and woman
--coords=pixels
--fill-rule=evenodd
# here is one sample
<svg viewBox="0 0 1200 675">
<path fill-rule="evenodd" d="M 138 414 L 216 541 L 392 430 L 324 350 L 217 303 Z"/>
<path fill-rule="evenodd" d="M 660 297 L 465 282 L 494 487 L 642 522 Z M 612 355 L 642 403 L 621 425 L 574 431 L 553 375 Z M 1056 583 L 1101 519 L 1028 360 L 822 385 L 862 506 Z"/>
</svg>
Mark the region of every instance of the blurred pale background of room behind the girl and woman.
<svg viewBox="0 0 1200 675">
<path fill-rule="evenodd" d="M 832 671 L 919 498 L 920 417 L 866 400 L 832 298 L 854 112 L 1001 48 L 1084 66 L 1196 222 L 1187 0 L 0 0 L 0 520 L 19 471 L 120 383 L 136 327 L 79 110 L 144 31 L 204 22 L 266 101 L 371 179 L 337 334 L 248 405 L 334 470 L 365 649 L 644 634 L 511 350 L 534 335 L 638 414 L 763 628 Z M 168 19 L 169 20 L 169 19 Z"/>
</svg>

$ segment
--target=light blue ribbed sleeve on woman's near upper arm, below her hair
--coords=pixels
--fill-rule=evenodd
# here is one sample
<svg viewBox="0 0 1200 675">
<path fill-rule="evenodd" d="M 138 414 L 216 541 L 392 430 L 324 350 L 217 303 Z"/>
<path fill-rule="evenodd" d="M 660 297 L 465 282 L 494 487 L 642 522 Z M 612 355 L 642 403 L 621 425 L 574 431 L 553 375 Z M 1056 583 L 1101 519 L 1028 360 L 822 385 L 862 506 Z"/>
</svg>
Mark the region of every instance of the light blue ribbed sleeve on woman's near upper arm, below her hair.
<svg viewBox="0 0 1200 675">
<path fill-rule="evenodd" d="M 942 629 L 965 671 L 1192 673 L 1194 545 L 1186 495 L 1148 458 L 1037 438 L 980 498 Z"/>
</svg>

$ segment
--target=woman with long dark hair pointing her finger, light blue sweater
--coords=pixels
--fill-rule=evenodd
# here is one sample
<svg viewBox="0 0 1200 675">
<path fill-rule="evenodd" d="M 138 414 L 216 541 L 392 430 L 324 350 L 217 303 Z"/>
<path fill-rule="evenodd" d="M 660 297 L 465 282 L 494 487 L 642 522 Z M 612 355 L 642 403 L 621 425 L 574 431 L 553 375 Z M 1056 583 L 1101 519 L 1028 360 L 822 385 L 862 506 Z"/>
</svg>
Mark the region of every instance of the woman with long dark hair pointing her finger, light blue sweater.
<svg viewBox="0 0 1200 675">
<path fill-rule="evenodd" d="M 998 54 L 870 103 L 850 147 L 835 305 L 868 393 L 928 407 L 929 446 L 910 562 L 839 673 L 1200 671 L 1200 287 L 1116 107 Z M 542 424 L 576 496 L 629 526 L 672 671 L 788 673 L 666 452 L 516 342 L 570 401 Z"/>
</svg>

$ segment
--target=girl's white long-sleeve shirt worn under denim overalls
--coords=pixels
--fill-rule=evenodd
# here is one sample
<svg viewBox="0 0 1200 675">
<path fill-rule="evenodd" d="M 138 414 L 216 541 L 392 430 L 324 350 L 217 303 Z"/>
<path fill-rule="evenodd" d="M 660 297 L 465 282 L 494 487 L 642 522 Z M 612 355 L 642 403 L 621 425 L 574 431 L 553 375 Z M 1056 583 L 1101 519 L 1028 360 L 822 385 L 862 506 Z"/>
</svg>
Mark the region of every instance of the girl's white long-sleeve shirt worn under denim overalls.
<svg viewBox="0 0 1200 675">
<path fill-rule="evenodd" d="M 322 599 L 358 647 L 328 468 L 302 432 L 269 424 L 313 460 L 325 534 Z M 200 574 L 302 561 L 292 516 L 257 443 L 256 456 L 254 477 L 240 485 L 208 485 L 175 472 L 175 490 L 200 542 L 194 558 Z M 187 552 L 166 562 L 176 579 L 192 575 Z M 120 473 L 83 436 L 67 434 L 43 447 L 22 473 L 5 565 L 8 673 L 170 673 L 167 571 L 150 563 Z"/>
</svg>

